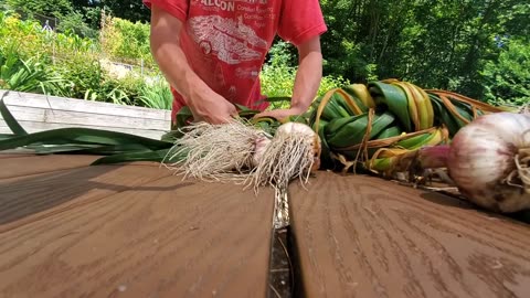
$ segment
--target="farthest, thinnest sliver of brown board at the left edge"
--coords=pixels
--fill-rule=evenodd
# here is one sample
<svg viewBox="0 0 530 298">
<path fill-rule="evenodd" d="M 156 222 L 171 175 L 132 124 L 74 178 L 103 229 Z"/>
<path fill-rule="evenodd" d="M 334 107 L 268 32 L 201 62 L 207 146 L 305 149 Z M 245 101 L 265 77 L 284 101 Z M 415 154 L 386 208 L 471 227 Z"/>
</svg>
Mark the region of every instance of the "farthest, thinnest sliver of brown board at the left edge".
<svg viewBox="0 0 530 298">
<path fill-rule="evenodd" d="M 0 160 L 0 179 L 74 169 L 91 164 L 100 156 L 50 155 Z"/>
</svg>

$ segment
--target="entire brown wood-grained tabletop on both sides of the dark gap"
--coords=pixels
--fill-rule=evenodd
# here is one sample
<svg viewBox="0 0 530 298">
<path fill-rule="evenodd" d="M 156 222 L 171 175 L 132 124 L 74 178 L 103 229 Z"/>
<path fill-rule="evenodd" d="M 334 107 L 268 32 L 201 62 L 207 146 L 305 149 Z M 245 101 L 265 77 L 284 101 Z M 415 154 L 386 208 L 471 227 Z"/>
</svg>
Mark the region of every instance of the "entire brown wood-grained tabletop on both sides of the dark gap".
<svg viewBox="0 0 530 298">
<path fill-rule="evenodd" d="M 275 297 L 272 191 L 94 159 L 0 155 L 0 297 Z M 530 225 L 362 175 L 289 192 L 294 297 L 530 297 Z"/>
</svg>

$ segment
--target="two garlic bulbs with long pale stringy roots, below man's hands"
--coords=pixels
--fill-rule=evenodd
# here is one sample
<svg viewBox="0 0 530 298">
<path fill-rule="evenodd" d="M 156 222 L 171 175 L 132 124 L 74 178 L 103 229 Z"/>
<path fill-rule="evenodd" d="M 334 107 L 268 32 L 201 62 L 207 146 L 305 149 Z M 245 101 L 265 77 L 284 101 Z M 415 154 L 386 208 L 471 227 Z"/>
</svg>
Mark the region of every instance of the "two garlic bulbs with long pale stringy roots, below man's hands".
<svg viewBox="0 0 530 298">
<path fill-rule="evenodd" d="M 295 179 L 307 183 L 318 170 L 320 139 L 307 125 L 286 123 L 274 136 L 247 123 L 191 124 L 182 128 L 167 160 L 184 178 L 231 181 L 254 187 L 283 189 Z"/>
</svg>

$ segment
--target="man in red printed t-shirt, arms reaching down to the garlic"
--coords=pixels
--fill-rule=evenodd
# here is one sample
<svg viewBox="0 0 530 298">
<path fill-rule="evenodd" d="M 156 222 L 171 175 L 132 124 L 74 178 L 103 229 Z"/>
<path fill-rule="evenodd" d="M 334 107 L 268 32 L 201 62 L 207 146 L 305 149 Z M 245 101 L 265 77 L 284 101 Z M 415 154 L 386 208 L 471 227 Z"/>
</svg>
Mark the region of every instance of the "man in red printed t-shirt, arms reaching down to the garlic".
<svg viewBox="0 0 530 298">
<path fill-rule="evenodd" d="M 151 52 L 174 96 L 172 118 L 188 106 L 194 120 L 221 124 L 234 104 L 284 118 L 305 113 L 322 76 L 318 0 L 144 0 L 151 9 Z M 298 49 L 290 108 L 265 110 L 259 72 L 278 34 Z M 257 103 L 262 102 L 262 103 Z"/>
</svg>

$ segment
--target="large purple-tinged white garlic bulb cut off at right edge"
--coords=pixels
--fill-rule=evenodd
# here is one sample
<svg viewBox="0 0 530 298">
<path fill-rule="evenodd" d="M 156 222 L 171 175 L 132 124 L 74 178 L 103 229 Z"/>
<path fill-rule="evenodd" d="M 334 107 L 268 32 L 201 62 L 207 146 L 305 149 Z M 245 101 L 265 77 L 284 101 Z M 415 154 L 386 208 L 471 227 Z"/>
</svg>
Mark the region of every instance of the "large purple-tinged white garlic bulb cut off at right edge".
<svg viewBox="0 0 530 298">
<path fill-rule="evenodd" d="M 483 207 L 530 209 L 530 114 L 488 114 L 463 127 L 447 169 L 459 191 Z"/>
</svg>

